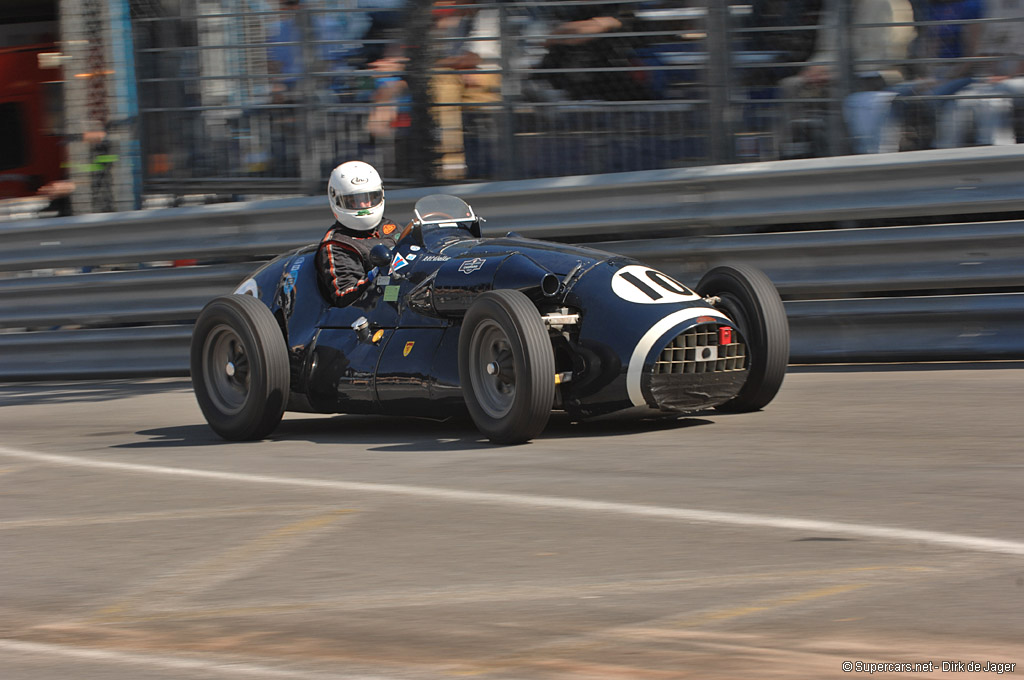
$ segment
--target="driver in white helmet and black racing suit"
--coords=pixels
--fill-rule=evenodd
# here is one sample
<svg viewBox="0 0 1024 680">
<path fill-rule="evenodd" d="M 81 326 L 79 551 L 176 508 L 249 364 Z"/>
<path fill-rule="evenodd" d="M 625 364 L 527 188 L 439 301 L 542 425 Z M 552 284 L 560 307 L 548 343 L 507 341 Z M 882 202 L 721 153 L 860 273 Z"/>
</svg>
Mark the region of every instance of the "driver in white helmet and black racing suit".
<svg viewBox="0 0 1024 680">
<path fill-rule="evenodd" d="M 384 217 L 384 188 L 372 165 L 348 161 L 331 171 L 327 184 L 331 212 L 337 220 L 321 240 L 316 271 L 331 302 L 351 303 L 377 275 L 370 249 L 392 248 L 398 225 Z"/>
</svg>

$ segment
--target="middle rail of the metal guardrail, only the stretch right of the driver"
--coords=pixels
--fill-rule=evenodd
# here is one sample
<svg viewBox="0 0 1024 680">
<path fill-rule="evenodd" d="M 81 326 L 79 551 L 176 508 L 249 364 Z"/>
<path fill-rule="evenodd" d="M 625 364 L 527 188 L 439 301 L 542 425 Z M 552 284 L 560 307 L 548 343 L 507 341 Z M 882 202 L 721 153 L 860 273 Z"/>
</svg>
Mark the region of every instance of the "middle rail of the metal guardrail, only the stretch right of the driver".
<svg viewBox="0 0 1024 680">
<path fill-rule="evenodd" d="M 1024 290 L 1024 221 L 683 237 L 595 243 L 695 284 L 745 262 L 787 299 L 912 291 Z"/>
</svg>

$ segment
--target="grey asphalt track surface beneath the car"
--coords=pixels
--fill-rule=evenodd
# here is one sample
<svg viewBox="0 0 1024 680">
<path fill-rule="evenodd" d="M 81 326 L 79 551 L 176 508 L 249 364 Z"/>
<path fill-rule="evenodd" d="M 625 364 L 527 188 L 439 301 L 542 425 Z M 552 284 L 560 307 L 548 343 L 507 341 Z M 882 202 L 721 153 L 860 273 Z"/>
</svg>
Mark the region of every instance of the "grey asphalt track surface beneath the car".
<svg viewBox="0 0 1024 680">
<path fill-rule="evenodd" d="M 1024 365 L 801 370 L 522 447 L 230 444 L 187 381 L 0 385 L 0 678 L 1015 677 L 1022 405 Z"/>
</svg>

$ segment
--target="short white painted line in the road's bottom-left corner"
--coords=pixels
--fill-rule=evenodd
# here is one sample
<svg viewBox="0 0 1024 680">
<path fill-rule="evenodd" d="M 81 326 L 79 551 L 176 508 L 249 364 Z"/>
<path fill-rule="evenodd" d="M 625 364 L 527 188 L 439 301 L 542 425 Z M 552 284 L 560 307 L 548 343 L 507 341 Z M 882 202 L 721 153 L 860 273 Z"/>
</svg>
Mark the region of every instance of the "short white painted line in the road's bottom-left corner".
<svg viewBox="0 0 1024 680">
<path fill-rule="evenodd" d="M 217 661 L 205 658 L 185 658 L 183 656 L 167 656 L 160 654 L 140 654 L 124 651 L 109 651 L 106 649 L 87 649 L 63 644 L 48 644 L 40 642 L 23 642 L 22 640 L 0 639 L 0 652 L 7 651 L 35 656 L 66 656 L 84 661 L 108 664 L 128 664 L 132 666 L 147 666 L 169 671 L 196 671 L 203 674 L 241 675 L 248 678 L 287 678 L 290 680 L 389 680 L 378 675 L 336 673 L 307 673 L 275 669 L 253 664 L 237 664 L 233 661 Z"/>
</svg>

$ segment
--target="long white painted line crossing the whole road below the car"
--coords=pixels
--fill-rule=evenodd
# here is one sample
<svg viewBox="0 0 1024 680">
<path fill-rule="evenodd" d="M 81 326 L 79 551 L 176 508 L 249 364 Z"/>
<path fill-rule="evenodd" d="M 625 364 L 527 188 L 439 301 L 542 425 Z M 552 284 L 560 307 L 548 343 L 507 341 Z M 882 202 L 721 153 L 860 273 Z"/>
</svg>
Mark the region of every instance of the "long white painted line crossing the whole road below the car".
<svg viewBox="0 0 1024 680">
<path fill-rule="evenodd" d="M 610 503 L 605 501 L 588 501 L 585 499 L 560 498 L 553 496 L 532 496 L 527 494 L 497 494 L 490 492 L 470 492 L 457 488 L 437 488 L 432 486 L 411 486 L 408 484 L 386 484 L 365 481 L 342 481 L 335 479 L 309 479 L 305 477 L 278 477 L 263 474 L 246 474 L 241 472 L 220 472 L 216 470 L 196 470 L 191 468 L 164 467 L 160 465 L 144 465 L 140 463 L 122 463 L 118 461 L 102 461 L 75 456 L 59 456 L 41 454 L 30 451 L 18 451 L 0 447 L 0 456 L 31 460 L 53 465 L 116 470 L 118 472 L 137 472 L 140 474 L 156 474 L 172 477 L 190 477 L 195 479 L 214 479 L 226 482 L 242 482 L 250 484 L 269 484 L 278 486 L 300 486 L 329 491 L 365 492 L 371 494 L 392 494 L 396 496 L 414 496 L 441 501 L 459 501 L 463 503 L 479 503 L 537 510 L 570 510 L 579 512 L 600 512 L 632 517 L 651 517 L 656 519 L 675 519 L 688 522 L 705 522 L 711 524 L 729 524 L 733 526 L 764 526 L 769 528 L 792 529 L 827 535 L 854 536 L 868 539 L 885 539 L 889 541 L 909 541 L 936 546 L 945 546 L 971 552 L 1002 553 L 1007 555 L 1024 555 L 1024 543 L 986 539 L 959 534 L 928 532 L 892 526 L 874 526 L 871 524 L 852 524 L 798 517 L 779 517 L 774 515 L 756 515 L 738 512 L 719 512 L 714 510 L 696 510 L 692 508 L 672 508 L 653 505 L 637 505 L 632 503 Z"/>
</svg>

